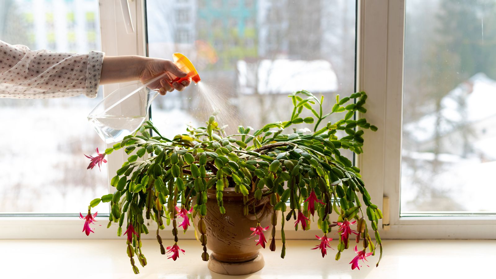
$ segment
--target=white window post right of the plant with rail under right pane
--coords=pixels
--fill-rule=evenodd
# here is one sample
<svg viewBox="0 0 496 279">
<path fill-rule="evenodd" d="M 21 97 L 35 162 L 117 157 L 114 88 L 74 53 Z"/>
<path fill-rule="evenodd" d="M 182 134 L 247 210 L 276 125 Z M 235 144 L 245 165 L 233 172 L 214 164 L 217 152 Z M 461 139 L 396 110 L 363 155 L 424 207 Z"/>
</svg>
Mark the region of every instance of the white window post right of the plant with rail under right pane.
<svg viewBox="0 0 496 279">
<path fill-rule="evenodd" d="M 365 116 L 378 131 L 365 133 L 358 162 L 384 209 L 381 237 L 495 239 L 495 215 L 400 216 L 405 0 L 361 0 L 360 7 L 358 88 L 369 95 Z"/>
</svg>

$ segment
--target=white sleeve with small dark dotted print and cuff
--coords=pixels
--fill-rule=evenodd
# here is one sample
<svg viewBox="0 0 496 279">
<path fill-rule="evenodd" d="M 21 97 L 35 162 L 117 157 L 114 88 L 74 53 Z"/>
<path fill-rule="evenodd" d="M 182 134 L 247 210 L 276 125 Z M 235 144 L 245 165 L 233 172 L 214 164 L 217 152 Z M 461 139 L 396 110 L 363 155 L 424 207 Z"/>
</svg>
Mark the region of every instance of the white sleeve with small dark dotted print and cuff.
<svg viewBox="0 0 496 279">
<path fill-rule="evenodd" d="M 0 98 L 95 98 L 104 53 L 32 51 L 0 41 Z"/>
</svg>

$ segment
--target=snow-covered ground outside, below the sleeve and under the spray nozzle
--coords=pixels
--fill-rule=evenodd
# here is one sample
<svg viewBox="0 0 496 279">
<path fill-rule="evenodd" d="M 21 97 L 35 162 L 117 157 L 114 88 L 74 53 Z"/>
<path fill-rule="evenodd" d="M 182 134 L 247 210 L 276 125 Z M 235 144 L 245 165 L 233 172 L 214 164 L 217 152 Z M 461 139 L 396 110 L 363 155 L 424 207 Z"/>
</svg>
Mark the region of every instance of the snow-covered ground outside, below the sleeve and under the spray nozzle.
<svg viewBox="0 0 496 279">
<path fill-rule="evenodd" d="M 75 97 L 0 104 L 0 212 L 74 213 L 108 193 L 107 165 L 86 170 L 95 148 L 105 150 L 86 117 L 99 99 Z M 11 102 L 12 103 L 12 102 Z M 22 105 L 21 105 L 22 103 Z M 198 124 L 179 109 L 154 107 L 162 135 Z M 108 212 L 107 205 L 96 210 Z"/>
</svg>

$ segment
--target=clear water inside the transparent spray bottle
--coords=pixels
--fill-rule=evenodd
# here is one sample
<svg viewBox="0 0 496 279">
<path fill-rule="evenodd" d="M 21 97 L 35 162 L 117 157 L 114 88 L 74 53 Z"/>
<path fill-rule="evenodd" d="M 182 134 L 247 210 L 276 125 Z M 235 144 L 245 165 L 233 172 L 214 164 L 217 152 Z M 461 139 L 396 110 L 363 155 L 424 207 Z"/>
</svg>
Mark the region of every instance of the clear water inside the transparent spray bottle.
<svg viewBox="0 0 496 279">
<path fill-rule="evenodd" d="M 98 115 L 88 116 L 88 121 L 95 127 L 100 138 L 106 143 L 112 143 L 138 130 L 145 118 L 146 115 Z"/>
</svg>

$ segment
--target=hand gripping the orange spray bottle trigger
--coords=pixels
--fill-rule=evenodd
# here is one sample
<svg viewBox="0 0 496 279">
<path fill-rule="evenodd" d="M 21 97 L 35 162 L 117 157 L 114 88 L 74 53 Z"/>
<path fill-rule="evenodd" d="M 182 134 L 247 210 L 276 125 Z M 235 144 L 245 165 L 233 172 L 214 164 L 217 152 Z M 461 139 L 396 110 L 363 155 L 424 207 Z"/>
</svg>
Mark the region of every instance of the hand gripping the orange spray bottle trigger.
<svg viewBox="0 0 496 279">
<path fill-rule="evenodd" d="M 186 72 L 179 70 L 172 61 L 160 58 L 146 59 L 143 70 L 141 70 L 141 74 L 139 75 L 139 80 L 144 83 L 164 72 L 167 75 L 148 85 L 148 88 L 159 89 L 160 94 L 165 95 L 167 92 L 174 91 L 174 89 L 183 91 L 191 83 L 191 79 L 184 80 L 181 83 L 173 81 L 176 77 L 185 77 Z"/>
</svg>

